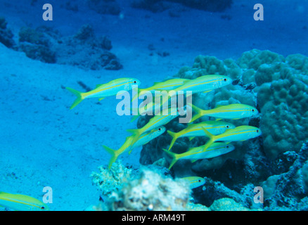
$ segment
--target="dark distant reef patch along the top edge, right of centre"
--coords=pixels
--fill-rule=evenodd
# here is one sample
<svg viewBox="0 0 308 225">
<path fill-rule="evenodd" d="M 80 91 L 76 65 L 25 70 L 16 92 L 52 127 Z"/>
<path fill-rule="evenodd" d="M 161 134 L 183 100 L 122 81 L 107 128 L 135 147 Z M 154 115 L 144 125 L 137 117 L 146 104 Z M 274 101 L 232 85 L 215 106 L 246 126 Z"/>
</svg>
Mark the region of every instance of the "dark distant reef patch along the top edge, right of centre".
<svg viewBox="0 0 308 225">
<path fill-rule="evenodd" d="M 224 11 L 226 8 L 231 7 L 232 4 L 232 0 L 135 0 L 131 6 L 135 8 L 143 8 L 156 13 L 172 8 L 167 1 L 182 4 L 190 8 L 212 12 Z"/>
</svg>

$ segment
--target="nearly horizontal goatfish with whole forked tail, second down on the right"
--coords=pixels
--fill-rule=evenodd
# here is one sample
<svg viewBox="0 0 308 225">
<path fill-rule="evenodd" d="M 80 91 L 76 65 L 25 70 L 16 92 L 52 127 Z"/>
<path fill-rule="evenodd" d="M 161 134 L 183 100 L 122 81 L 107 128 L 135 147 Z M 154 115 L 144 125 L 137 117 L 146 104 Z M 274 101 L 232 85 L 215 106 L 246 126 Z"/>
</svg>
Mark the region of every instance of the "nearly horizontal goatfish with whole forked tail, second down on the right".
<svg viewBox="0 0 308 225">
<path fill-rule="evenodd" d="M 193 110 L 197 113 L 191 118 L 191 122 L 197 120 L 204 115 L 209 117 L 216 117 L 217 120 L 231 119 L 239 120 L 245 117 L 252 117 L 257 115 L 259 112 L 255 107 L 245 104 L 231 104 L 231 105 L 219 105 L 211 110 L 202 110 L 195 105 L 191 105 Z"/>
</svg>

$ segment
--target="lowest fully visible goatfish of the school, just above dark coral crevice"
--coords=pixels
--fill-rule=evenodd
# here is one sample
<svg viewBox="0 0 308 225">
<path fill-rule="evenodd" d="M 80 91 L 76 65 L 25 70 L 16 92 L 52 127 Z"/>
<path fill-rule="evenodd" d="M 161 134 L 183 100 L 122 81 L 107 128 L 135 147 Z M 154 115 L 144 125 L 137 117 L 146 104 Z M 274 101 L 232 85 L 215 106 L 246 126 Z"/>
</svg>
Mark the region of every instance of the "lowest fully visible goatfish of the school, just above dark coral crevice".
<svg viewBox="0 0 308 225">
<path fill-rule="evenodd" d="M 217 142 L 217 143 L 212 143 L 212 145 L 204 149 L 204 146 L 199 146 L 196 148 L 188 148 L 188 150 L 185 153 L 177 154 L 177 153 L 172 153 L 166 149 L 165 152 L 167 155 L 172 157 L 172 161 L 169 165 L 169 169 L 178 161 L 178 160 L 192 160 L 192 162 L 195 162 L 195 160 L 203 160 L 203 159 L 210 159 L 217 157 L 219 155 L 224 155 L 226 153 L 231 152 L 234 150 L 234 146 L 231 145 L 230 143 L 226 142 Z"/>
</svg>

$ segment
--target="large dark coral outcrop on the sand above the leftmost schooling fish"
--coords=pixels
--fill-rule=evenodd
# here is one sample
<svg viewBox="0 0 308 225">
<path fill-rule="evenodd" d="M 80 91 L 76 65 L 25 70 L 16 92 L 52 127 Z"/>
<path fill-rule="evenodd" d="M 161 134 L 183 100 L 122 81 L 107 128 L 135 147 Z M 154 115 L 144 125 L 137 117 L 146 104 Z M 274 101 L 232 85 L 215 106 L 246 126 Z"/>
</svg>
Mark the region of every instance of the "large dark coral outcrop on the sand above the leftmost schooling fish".
<svg viewBox="0 0 308 225">
<path fill-rule="evenodd" d="M 23 27 L 19 32 L 19 49 L 44 63 L 76 65 L 86 70 L 120 70 L 122 65 L 110 52 L 112 48 L 110 39 L 96 37 L 91 25 L 82 26 L 71 37 L 61 37 L 48 27 Z"/>
</svg>

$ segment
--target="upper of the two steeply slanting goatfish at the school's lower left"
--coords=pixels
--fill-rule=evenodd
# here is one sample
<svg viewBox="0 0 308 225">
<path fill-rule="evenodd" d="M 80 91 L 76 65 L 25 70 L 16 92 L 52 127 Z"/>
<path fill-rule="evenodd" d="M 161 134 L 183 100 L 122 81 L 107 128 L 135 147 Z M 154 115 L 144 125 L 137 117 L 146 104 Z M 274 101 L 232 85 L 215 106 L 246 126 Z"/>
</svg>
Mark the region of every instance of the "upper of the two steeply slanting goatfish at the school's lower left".
<svg viewBox="0 0 308 225">
<path fill-rule="evenodd" d="M 127 129 L 128 132 L 134 136 L 133 141 L 131 142 L 131 145 L 136 143 L 136 141 L 139 139 L 139 136 L 141 134 L 145 133 L 146 131 L 150 131 L 151 129 L 154 129 L 156 127 L 160 127 L 164 124 L 167 124 L 174 118 L 179 116 L 179 109 L 177 107 L 171 107 L 171 108 L 165 108 L 160 112 L 160 115 L 155 115 L 152 117 L 146 125 L 139 129 Z"/>
</svg>

